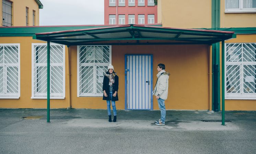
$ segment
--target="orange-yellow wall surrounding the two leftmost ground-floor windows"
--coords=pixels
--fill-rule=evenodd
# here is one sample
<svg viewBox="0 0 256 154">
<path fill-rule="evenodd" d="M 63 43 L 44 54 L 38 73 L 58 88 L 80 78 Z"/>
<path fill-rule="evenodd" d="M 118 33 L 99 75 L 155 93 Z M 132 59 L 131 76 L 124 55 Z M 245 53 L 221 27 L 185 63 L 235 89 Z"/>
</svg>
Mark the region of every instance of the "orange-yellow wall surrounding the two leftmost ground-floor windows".
<svg viewBox="0 0 256 154">
<path fill-rule="evenodd" d="M 20 71 L 21 71 L 21 96 L 20 99 L 0 99 L 0 108 L 46 108 L 46 99 L 31 99 L 32 95 L 32 44 L 46 43 L 39 40 L 33 40 L 32 37 L 0 37 L 0 43 L 20 43 Z M 67 52 L 67 49 L 65 50 Z M 66 63 L 67 65 L 67 63 Z M 67 66 L 66 72 L 67 72 Z M 66 75 L 67 85 L 67 75 Z M 67 96 L 67 86 L 66 86 Z M 67 108 L 67 99 L 51 100 L 51 108 Z"/>
</svg>

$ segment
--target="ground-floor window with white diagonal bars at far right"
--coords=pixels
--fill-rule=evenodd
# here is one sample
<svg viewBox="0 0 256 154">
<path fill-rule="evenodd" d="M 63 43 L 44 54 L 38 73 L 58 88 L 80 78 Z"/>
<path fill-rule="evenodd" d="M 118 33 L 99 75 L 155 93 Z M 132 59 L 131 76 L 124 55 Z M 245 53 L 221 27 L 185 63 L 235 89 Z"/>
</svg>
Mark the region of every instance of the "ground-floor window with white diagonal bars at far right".
<svg viewBox="0 0 256 154">
<path fill-rule="evenodd" d="M 225 99 L 256 100 L 256 43 L 226 43 Z"/>
</svg>

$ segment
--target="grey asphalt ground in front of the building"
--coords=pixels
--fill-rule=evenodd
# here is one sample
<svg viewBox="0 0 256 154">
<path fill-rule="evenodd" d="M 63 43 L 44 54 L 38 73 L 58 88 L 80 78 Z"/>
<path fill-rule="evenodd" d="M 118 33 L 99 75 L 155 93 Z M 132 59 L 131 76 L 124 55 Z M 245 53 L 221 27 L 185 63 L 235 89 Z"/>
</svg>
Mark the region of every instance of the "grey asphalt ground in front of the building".
<svg viewBox="0 0 256 154">
<path fill-rule="evenodd" d="M 256 112 L 0 109 L 0 153 L 256 153 Z"/>
</svg>

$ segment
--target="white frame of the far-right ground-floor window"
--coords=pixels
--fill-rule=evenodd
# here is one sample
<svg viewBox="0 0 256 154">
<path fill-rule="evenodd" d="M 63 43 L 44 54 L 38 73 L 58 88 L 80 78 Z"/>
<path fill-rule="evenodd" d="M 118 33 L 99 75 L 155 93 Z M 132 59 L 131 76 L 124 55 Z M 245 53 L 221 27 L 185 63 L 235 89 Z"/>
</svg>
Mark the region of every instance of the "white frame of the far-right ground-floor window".
<svg viewBox="0 0 256 154">
<path fill-rule="evenodd" d="M 240 76 L 243 75 L 243 72 L 244 72 L 244 70 L 243 70 L 244 67 L 243 66 L 244 65 L 256 65 L 256 62 L 243 62 L 243 54 L 242 54 L 242 62 L 238 61 L 239 58 L 236 57 L 235 55 L 233 55 L 234 59 L 233 59 L 232 62 L 227 62 L 227 60 L 226 60 L 226 52 L 227 52 L 226 51 L 226 45 L 227 44 L 247 44 L 247 43 L 249 43 L 249 42 L 246 42 L 246 43 L 245 42 L 244 43 L 225 43 L 225 54 L 224 54 L 225 57 L 224 58 L 225 58 L 225 99 L 226 100 L 256 100 L 256 93 L 244 94 L 244 92 L 242 92 L 243 88 L 244 88 L 243 87 L 243 85 L 244 85 L 243 77 L 240 77 L 240 81 L 239 81 L 241 89 L 242 89 L 242 90 L 240 90 L 240 93 L 227 93 L 227 90 L 226 90 L 226 88 L 227 88 L 227 86 L 226 86 L 226 83 L 227 83 L 226 67 L 227 67 L 227 65 L 240 65 L 240 70 L 239 70 Z M 243 50 L 243 49 L 241 49 L 241 50 Z M 252 97 L 252 95 L 254 95 L 254 96 Z"/>
</svg>

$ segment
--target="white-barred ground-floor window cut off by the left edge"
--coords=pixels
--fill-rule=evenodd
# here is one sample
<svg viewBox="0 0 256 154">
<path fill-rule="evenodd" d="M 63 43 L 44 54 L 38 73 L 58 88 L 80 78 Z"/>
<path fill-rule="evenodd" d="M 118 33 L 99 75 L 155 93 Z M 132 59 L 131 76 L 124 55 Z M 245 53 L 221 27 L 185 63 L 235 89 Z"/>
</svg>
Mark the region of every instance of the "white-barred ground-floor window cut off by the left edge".
<svg viewBox="0 0 256 154">
<path fill-rule="evenodd" d="M 20 44 L 0 44 L 0 98 L 20 98 Z"/>
</svg>

